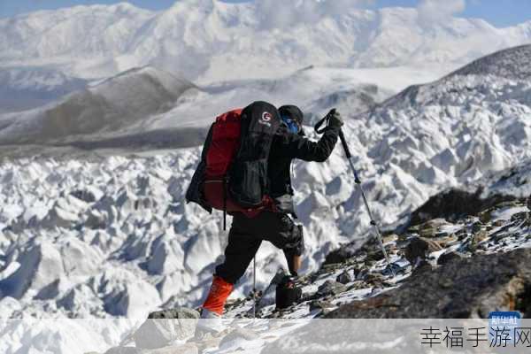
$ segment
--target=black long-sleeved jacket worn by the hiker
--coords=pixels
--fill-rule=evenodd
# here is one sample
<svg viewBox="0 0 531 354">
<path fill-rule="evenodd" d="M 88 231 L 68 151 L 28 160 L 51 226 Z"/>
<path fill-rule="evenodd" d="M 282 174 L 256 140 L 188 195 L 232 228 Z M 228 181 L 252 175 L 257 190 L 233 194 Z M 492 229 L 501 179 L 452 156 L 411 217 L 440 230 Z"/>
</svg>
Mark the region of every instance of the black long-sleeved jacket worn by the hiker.
<svg viewBox="0 0 531 354">
<path fill-rule="evenodd" d="M 298 158 L 304 161 L 326 161 L 334 150 L 338 135 L 338 128 L 328 128 L 319 142 L 312 142 L 302 135 L 290 133 L 286 127 L 279 128 L 269 152 L 267 170 L 269 194 L 275 199 L 281 212 L 295 214 L 290 173 L 292 160 Z"/>
</svg>

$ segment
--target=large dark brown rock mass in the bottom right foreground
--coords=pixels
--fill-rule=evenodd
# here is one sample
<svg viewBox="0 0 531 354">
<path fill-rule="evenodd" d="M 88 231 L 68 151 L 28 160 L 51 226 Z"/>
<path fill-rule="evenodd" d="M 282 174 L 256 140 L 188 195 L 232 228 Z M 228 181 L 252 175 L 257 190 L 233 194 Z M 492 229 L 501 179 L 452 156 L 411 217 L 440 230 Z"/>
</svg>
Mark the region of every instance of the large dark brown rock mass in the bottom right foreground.
<svg viewBox="0 0 531 354">
<path fill-rule="evenodd" d="M 531 315 L 531 250 L 450 259 L 432 272 L 413 273 L 397 289 L 330 312 L 335 319 L 487 318 L 493 309 Z"/>
</svg>

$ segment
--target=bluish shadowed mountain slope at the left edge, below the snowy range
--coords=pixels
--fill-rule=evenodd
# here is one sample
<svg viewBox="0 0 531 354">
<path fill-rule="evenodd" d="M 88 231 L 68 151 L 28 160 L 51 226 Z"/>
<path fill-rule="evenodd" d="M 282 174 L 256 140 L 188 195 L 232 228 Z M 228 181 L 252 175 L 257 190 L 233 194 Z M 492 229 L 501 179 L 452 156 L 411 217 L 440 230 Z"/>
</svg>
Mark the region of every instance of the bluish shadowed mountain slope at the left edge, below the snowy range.
<svg viewBox="0 0 531 354">
<path fill-rule="evenodd" d="M 0 69 L 0 113 L 25 111 L 48 104 L 75 90 L 87 81 L 66 76 L 45 67 Z"/>
</svg>

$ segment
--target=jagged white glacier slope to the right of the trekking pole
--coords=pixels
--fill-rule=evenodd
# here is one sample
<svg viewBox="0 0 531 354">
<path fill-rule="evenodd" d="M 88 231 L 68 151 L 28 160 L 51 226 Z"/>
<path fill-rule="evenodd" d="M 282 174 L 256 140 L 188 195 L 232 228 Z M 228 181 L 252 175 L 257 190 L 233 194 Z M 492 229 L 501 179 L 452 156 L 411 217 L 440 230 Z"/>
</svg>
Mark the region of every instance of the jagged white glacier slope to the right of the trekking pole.
<svg viewBox="0 0 531 354">
<path fill-rule="evenodd" d="M 381 199 L 374 203 L 384 219 L 407 215 L 434 190 L 475 181 L 529 157 L 531 82 L 498 76 L 507 72 L 504 65 L 528 71 L 522 50 L 495 54 L 503 60 L 494 74 L 458 72 L 413 86 L 350 120 L 350 142 L 358 165 L 373 175 L 373 196 Z M 487 63 L 492 57 L 473 65 L 488 68 Z"/>
</svg>

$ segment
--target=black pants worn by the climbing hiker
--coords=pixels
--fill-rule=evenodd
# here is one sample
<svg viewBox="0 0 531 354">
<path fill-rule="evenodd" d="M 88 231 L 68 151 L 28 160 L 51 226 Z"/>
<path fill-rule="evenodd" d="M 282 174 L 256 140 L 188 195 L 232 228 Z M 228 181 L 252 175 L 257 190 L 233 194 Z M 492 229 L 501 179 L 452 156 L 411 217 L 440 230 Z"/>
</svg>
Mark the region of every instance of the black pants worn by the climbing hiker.
<svg viewBox="0 0 531 354">
<path fill-rule="evenodd" d="M 216 275 L 235 284 L 245 273 L 263 240 L 283 250 L 288 262 L 304 252 L 303 227 L 297 226 L 288 214 L 261 212 L 250 219 L 236 213 L 228 234 L 225 262 L 216 267 Z"/>
</svg>

